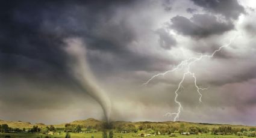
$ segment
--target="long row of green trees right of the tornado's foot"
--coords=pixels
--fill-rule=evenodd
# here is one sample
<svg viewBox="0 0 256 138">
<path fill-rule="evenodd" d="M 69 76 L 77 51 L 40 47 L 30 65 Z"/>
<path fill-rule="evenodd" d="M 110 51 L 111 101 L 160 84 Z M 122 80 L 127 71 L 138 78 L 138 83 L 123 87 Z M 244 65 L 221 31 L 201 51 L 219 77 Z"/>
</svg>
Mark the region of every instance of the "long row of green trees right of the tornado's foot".
<svg viewBox="0 0 256 138">
<path fill-rule="evenodd" d="M 246 130 L 245 128 L 232 128 L 229 126 L 220 126 L 218 128 L 208 128 L 200 127 L 196 125 L 167 125 L 167 124 L 141 124 L 136 127 L 133 124 L 118 124 L 114 125 L 114 130 L 117 133 L 137 133 L 137 131 L 144 131 L 145 133 L 151 134 L 173 134 L 173 133 L 184 133 L 189 132 L 190 134 L 237 134 L 241 136 L 255 136 L 256 128 L 250 128 Z"/>
</svg>

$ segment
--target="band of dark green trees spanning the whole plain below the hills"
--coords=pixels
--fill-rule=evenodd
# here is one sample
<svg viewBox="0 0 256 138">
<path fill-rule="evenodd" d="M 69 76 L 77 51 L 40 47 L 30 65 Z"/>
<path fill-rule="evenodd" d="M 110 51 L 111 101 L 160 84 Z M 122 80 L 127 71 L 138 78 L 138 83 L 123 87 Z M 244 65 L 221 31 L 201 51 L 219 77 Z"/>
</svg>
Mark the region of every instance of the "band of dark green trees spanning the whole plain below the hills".
<svg viewBox="0 0 256 138">
<path fill-rule="evenodd" d="M 26 130 L 23 128 L 20 130 L 19 128 L 11 128 L 8 127 L 7 124 L 0 125 L 0 131 L 2 133 L 20 133 L 20 132 L 28 132 L 28 133 L 43 133 L 47 134 L 49 131 L 60 133 L 64 132 L 72 132 L 72 133 L 80 133 L 80 132 L 93 132 L 93 131 L 102 131 L 102 137 L 113 137 L 113 131 L 107 134 L 104 129 L 113 130 L 117 133 L 137 133 L 141 131 L 142 133 L 150 133 L 150 134 L 173 134 L 173 133 L 190 133 L 190 134 L 199 134 L 199 133 L 211 133 L 211 134 L 236 134 L 237 136 L 248 136 L 248 137 L 256 137 L 256 128 L 250 128 L 246 130 L 245 128 L 233 128 L 230 126 L 220 126 L 216 128 L 208 128 L 202 127 L 200 125 L 185 125 L 181 123 L 180 125 L 172 125 L 172 124 L 148 124 L 142 123 L 139 126 L 134 124 L 102 124 L 102 125 L 94 125 L 94 126 L 86 126 L 86 125 L 76 125 L 76 124 L 65 124 L 64 128 L 55 128 L 54 125 L 49 125 L 47 127 L 38 127 L 34 125 L 33 128 Z"/>
</svg>

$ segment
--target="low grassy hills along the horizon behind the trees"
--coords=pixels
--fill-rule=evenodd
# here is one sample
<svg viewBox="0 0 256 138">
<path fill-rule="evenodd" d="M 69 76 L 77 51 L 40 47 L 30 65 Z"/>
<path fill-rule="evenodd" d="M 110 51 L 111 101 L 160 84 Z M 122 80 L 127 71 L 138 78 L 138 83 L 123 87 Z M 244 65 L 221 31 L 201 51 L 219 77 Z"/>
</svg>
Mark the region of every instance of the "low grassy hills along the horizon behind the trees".
<svg viewBox="0 0 256 138">
<path fill-rule="evenodd" d="M 73 122 L 69 122 L 70 124 L 73 125 L 82 125 L 84 127 L 88 126 L 95 126 L 95 125 L 101 125 L 103 121 L 99 121 L 97 119 L 93 118 L 88 118 L 86 120 L 77 120 Z M 0 120 L 0 124 L 8 124 L 9 127 L 12 128 L 32 128 L 33 125 L 37 125 L 39 127 L 46 127 L 47 125 L 43 123 L 36 123 L 36 124 L 31 124 L 30 122 L 22 122 L 22 121 L 2 121 Z M 57 124 L 54 125 L 56 128 L 64 128 L 64 124 Z M 246 126 L 246 125 L 229 125 L 229 124 L 209 124 L 209 123 L 195 123 L 195 122 L 183 122 L 183 121 L 164 121 L 164 122 L 150 122 L 150 121 L 140 121 L 140 122 L 126 122 L 126 121 L 114 121 L 112 122 L 113 125 L 128 125 L 128 124 L 133 124 L 136 127 L 139 127 L 140 125 L 172 125 L 172 126 L 180 126 L 181 124 L 184 124 L 186 126 L 196 126 L 196 127 L 207 127 L 207 128 L 216 128 L 220 126 L 230 126 L 233 128 L 252 128 L 251 126 Z M 255 126 L 253 128 L 256 128 Z"/>
</svg>

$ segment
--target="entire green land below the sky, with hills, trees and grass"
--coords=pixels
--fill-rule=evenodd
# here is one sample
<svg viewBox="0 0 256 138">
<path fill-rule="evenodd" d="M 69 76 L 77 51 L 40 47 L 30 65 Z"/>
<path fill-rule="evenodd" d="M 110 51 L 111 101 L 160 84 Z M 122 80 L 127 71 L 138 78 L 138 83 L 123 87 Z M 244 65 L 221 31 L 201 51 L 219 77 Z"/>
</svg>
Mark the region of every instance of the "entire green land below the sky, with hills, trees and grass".
<svg viewBox="0 0 256 138">
<path fill-rule="evenodd" d="M 106 131 L 107 130 L 107 131 Z M 106 131 L 103 135 L 103 131 Z M 109 132 L 113 132 L 110 137 Z M 255 137 L 256 127 L 246 125 L 208 124 L 181 121 L 164 122 L 125 122 L 114 121 L 106 124 L 93 118 L 78 120 L 66 124 L 45 125 L 43 123 L 31 124 L 22 121 L 0 120 L 1 137 L 27 137 L 27 138 L 58 138 L 66 137 L 84 138 L 129 138 L 140 137 L 140 134 L 151 134 L 150 137 L 179 137 L 179 138 L 220 138 L 220 137 Z M 181 135 L 181 133 L 190 133 Z M 70 138 L 67 137 L 67 138 Z"/>
</svg>

